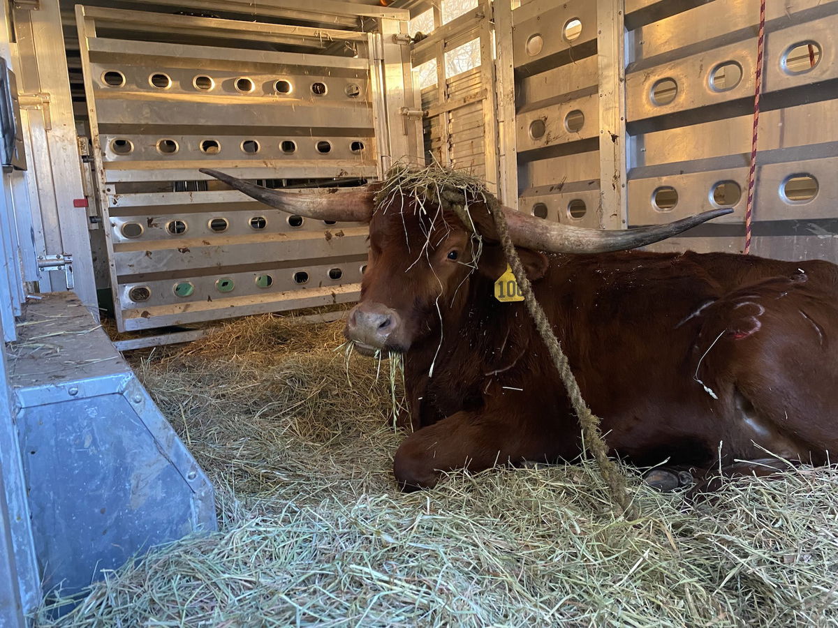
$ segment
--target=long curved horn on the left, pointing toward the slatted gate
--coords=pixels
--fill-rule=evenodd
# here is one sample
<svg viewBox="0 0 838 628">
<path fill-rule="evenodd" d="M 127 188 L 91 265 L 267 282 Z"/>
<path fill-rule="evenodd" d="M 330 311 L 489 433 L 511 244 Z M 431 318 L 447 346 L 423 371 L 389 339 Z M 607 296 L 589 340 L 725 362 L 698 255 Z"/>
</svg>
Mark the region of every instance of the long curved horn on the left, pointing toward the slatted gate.
<svg viewBox="0 0 838 628">
<path fill-rule="evenodd" d="M 291 192 L 272 190 L 256 183 L 230 177 L 229 174 L 200 168 L 200 172 L 209 174 L 223 181 L 230 188 L 246 193 L 257 201 L 281 209 L 288 214 L 297 214 L 315 220 L 334 220 L 340 222 L 365 223 L 370 220 L 373 210 L 373 198 L 377 188 L 326 188 L 317 191 Z"/>
</svg>

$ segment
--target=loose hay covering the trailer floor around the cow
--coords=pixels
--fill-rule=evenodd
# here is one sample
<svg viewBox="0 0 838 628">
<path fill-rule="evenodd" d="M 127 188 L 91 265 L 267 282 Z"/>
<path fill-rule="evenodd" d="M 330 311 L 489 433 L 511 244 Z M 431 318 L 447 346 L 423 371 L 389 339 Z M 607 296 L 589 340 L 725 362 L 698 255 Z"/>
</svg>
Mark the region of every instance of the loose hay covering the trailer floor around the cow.
<svg viewBox="0 0 838 628">
<path fill-rule="evenodd" d="M 37 624 L 838 625 L 838 471 L 742 481 L 702 512 L 634 481 L 637 522 L 591 463 L 402 495 L 390 378 L 344 363 L 341 326 L 253 317 L 135 354 L 215 483 L 220 532 Z"/>
</svg>

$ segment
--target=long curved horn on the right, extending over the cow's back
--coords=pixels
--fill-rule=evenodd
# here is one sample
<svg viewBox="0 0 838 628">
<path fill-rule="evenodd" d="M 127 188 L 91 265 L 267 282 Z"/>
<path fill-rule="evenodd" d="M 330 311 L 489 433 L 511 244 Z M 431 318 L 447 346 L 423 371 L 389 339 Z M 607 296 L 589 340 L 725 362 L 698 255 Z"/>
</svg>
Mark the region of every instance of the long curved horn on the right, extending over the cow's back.
<svg viewBox="0 0 838 628">
<path fill-rule="evenodd" d="M 608 253 L 615 250 L 636 249 L 639 246 L 671 238 L 707 220 L 731 214 L 732 211 L 731 208 L 711 209 L 668 224 L 608 231 L 548 222 L 504 207 L 512 241 L 527 249 L 543 250 L 549 253 Z"/>
</svg>

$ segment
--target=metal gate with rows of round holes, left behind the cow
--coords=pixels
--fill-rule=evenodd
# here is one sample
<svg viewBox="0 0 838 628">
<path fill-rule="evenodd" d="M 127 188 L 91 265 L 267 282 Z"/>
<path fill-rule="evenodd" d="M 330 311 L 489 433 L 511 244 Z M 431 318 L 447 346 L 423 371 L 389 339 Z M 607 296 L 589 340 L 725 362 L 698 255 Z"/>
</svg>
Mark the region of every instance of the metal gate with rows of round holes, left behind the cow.
<svg viewBox="0 0 838 628">
<path fill-rule="evenodd" d="M 110 8 L 79 6 L 76 20 L 121 331 L 357 298 L 365 226 L 289 217 L 198 169 L 274 187 L 379 177 L 406 146 L 388 143 L 388 123 L 401 122 L 393 111 L 409 95 L 398 85 L 398 44 L 358 31 Z M 382 31 L 398 32 L 396 20 L 385 22 Z M 229 41 L 139 39 L 166 31 Z M 235 39 L 309 50 L 337 43 L 354 56 L 225 47 Z M 406 122 L 403 130 L 409 135 Z"/>
</svg>

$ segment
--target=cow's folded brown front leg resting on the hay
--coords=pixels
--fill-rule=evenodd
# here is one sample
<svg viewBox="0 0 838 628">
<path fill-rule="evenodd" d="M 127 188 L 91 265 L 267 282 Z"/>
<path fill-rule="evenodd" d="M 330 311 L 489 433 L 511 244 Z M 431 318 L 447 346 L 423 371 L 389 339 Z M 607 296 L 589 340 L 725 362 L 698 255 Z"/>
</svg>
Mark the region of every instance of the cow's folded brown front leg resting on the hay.
<svg viewBox="0 0 838 628">
<path fill-rule="evenodd" d="M 432 488 L 440 471 L 483 471 L 494 464 L 544 457 L 528 449 L 522 425 L 487 414 L 458 412 L 408 436 L 396 451 L 393 473 L 405 491 Z"/>
</svg>

